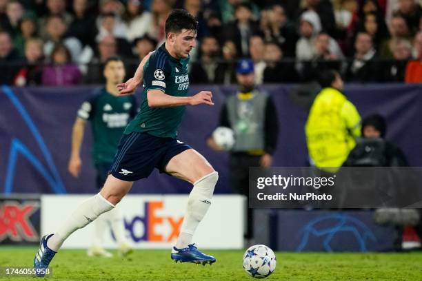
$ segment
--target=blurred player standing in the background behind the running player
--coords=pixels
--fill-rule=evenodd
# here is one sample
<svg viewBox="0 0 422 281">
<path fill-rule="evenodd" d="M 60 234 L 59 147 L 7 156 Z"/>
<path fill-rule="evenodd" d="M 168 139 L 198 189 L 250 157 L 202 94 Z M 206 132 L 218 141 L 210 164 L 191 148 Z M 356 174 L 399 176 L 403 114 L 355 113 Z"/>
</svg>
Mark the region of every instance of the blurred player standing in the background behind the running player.
<svg viewBox="0 0 422 281">
<path fill-rule="evenodd" d="M 83 131 L 87 121 L 91 122 L 94 142 L 92 146 L 92 160 L 97 169 L 97 189 L 101 189 L 108 171 L 110 171 L 117 145 L 130 119 L 137 114 L 137 103 L 134 96 L 119 96 L 116 88 L 125 78 L 125 67 L 121 59 L 112 56 L 104 63 L 103 75 L 106 87 L 97 90 L 95 94 L 84 101 L 78 111 L 77 120 L 72 132 L 72 152 L 68 169 L 77 178 L 81 170 L 81 144 Z M 94 222 L 94 241 L 88 249 L 88 256 L 112 257 L 112 253 L 103 247 L 103 236 L 110 225 L 117 240 L 119 253 L 122 256 L 132 251 L 124 236 L 123 216 L 119 208 L 114 208 L 100 216 Z"/>
</svg>

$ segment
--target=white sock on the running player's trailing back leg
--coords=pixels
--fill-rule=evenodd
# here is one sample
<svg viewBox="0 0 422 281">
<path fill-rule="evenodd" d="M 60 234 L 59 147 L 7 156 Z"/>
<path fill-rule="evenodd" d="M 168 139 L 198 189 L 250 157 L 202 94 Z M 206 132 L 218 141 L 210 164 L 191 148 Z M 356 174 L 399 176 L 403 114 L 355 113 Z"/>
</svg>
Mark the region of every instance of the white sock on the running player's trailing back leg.
<svg viewBox="0 0 422 281">
<path fill-rule="evenodd" d="M 98 218 L 99 215 L 114 208 L 101 194 L 97 194 L 83 201 L 81 205 L 69 216 L 59 230 L 47 241 L 47 246 L 53 251 L 58 251 L 61 244 L 77 229 L 85 227 Z"/>
</svg>

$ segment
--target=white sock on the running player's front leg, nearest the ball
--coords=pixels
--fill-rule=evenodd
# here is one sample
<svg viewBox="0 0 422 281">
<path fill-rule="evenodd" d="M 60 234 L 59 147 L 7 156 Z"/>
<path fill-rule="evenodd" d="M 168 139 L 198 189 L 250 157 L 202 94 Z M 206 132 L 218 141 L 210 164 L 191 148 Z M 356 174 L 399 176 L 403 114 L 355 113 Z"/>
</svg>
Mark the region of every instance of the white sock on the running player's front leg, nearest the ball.
<svg viewBox="0 0 422 281">
<path fill-rule="evenodd" d="M 208 208 L 210 208 L 212 194 L 214 194 L 214 187 L 218 179 L 219 173 L 214 171 L 194 183 L 189 195 L 188 207 L 186 208 L 180 235 L 177 239 L 177 249 L 188 247 L 191 244 L 199 222 L 201 222 L 205 214 L 207 214 Z"/>
</svg>

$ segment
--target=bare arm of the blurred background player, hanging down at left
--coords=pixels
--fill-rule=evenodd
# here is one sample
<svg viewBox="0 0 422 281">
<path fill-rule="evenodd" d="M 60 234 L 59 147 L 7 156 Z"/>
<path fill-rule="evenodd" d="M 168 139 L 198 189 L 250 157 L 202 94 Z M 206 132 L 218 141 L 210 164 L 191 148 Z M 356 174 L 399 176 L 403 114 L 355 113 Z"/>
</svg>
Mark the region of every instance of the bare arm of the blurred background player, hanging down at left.
<svg viewBox="0 0 422 281">
<path fill-rule="evenodd" d="M 72 176 L 77 178 L 81 171 L 81 145 L 83 141 L 83 132 L 85 131 L 86 121 L 80 117 L 74 122 L 72 129 L 72 152 L 70 153 L 68 170 Z"/>
</svg>

